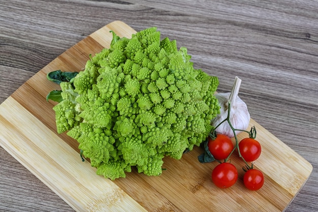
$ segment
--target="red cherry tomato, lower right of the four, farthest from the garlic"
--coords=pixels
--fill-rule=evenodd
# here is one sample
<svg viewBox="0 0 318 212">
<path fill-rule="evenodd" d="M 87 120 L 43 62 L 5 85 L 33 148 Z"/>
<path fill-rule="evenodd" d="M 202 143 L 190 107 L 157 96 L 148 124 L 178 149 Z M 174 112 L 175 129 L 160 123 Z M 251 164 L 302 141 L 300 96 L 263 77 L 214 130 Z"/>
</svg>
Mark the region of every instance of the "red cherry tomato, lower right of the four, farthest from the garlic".
<svg viewBox="0 0 318 212">
<path fill-rule="evenodd" d="M 249 169 L 245 172 L 243 181 L 247 189 L 256 191 L 264 185 L 264 175 L 260 170 Z"/>
</svg>

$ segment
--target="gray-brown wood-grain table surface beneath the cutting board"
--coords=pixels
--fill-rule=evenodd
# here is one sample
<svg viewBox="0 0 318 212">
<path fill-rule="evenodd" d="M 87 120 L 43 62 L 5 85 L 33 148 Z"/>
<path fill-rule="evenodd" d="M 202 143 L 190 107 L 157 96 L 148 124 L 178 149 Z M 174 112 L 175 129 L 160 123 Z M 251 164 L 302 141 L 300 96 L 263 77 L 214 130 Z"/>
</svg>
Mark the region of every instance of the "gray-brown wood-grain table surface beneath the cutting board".
<svg viewBox="0 0 318 212">
<path fill-rule="evenodd" d="M 0 0 L 0 103 L 59 54 L 104 25 L 157 26 L 213 70 L 235 76 L 251 117 L 313 165 L 287 211 L 318 211 L 317 1 Z M 1 129 L 0 129 L 1 130 Z M 286 159 L 288 160 L 288 159 Z M 1 211 L 73 211 L 0 147 Z"/>
</svg>

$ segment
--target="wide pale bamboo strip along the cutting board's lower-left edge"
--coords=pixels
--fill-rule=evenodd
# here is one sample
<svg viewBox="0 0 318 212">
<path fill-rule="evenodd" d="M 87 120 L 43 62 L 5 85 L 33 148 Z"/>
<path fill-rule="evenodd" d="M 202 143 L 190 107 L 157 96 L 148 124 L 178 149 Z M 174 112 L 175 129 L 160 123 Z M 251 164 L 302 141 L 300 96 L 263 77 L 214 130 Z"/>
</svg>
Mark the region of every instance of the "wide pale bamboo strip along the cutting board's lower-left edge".
<svg viewBox="0 0 318 212">
<path fill-rule="evenodd" d="M 2 146 L 75 210 L 144 211 L 110 180 L 90 178 L 96 170 L 76 160 L 78 153 L 71 146 L 13 98 L 1 105 L 1 117 L 6 132 L 1 134 Z"/>
</svg>

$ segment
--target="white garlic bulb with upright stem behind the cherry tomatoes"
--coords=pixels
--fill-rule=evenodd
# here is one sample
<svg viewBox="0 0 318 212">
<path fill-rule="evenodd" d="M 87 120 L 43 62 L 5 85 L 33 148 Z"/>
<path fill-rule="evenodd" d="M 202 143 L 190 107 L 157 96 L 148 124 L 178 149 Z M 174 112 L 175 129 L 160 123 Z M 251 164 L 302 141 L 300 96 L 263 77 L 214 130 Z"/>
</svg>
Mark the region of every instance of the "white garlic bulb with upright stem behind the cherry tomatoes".
<svg viewBox="0 0 318 212">
<path fill-rule="evenodd" d="M 218 114 L 212 121 L 211 125 L 216 127 L 228 116 L 228 107 L 229 102 L 231 103 L 230 110 L 230 122 L 234 129 L 246 130 L 249 124 L 250 115 L 247 110 L 247 105 L 243 100 L 238 97 L 238 92 L 241 85 L 241 79 L 235 77 L 233 88 L 231 93 L 221 93 L 215 94 L 219 105 L 220 105 L 220 114 Z M 231 129 L 228 122 L 222 123 L 216 130 L 218 133 L 225 134 L 230 138 L 234 137 L 233 130 Z M 239 134 L 242 131 L 236 131 L 235 134 Z"/>
</svg>

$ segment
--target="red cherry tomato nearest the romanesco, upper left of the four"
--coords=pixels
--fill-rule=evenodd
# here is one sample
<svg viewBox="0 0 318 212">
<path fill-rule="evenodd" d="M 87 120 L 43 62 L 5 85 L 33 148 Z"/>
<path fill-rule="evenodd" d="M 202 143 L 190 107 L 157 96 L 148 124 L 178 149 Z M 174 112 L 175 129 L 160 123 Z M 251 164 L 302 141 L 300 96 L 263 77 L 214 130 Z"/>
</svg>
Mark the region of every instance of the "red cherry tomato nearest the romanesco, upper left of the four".
<svg viewBox="0 0 318 212">
<path fill-rule="evenodd" d="M 234 145 L 231 138 L 227 135 L 217 134 L 214 140 L 209 137 L 208 147 L 210 153 L 216 160 L 222 160 L 230 155 Z"/>
</svg>

